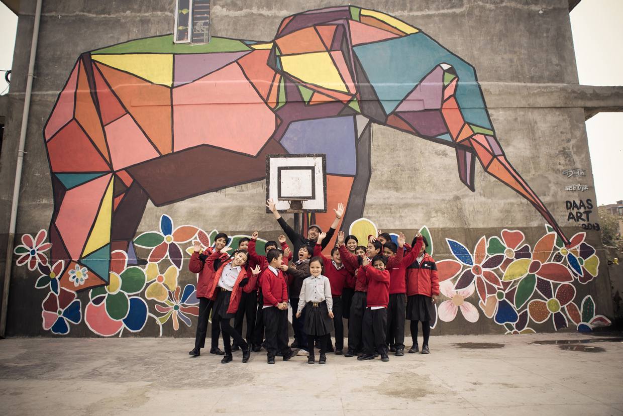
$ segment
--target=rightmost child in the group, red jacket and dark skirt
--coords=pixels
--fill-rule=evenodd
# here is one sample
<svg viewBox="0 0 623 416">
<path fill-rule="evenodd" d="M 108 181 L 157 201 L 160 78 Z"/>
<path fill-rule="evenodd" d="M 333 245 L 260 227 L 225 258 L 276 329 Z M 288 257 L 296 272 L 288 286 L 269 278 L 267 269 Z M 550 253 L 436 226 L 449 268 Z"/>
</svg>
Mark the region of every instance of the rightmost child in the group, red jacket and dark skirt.
<svg viewBox="0 0 623 416">
<path fill-rule="evenodd" d="M 418 233 L 418 236 L 420 234 Z M 416 240 L 412 247 L 416 249 Z M 422 354 L 429 354 L 430 320 L 435 316 L 435 303 L 439 296 L 439 276 L 435 260 L 427 253 L 428 241 L 422 237 L 423 244 L 418 251 L 416 261 L 407 267 L 407 319 L 411 320 L 411 338 L 413 346 L 409 352 L 419 351 L 417 345 L 417 321 L 422 322 Z"/>
</svg>

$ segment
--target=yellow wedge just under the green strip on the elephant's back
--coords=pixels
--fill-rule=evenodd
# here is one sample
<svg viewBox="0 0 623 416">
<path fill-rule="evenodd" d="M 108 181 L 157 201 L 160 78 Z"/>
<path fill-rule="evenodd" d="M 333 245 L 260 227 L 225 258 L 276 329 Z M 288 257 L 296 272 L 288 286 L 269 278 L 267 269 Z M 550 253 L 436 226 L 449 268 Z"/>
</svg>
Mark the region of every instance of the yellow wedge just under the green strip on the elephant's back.
<svg viewBox="0 0 623 416">
<path fill-rule="evenodd" d="M 93 55 L 92 59 L 155 84 L 171 87 L 173 83 L 171 54 Z"/>
</svg>

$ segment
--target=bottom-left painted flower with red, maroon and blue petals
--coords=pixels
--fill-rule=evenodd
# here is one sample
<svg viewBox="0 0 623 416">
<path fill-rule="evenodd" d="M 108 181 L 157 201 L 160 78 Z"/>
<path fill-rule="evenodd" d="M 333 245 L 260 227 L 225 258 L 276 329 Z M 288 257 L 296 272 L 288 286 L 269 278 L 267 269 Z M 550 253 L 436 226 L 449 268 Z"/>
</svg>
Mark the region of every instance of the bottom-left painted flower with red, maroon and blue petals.
<svg viewBox="0 0 623 416">
<path fill-rule="evenodd" d="M 41 304 L 43 311 L 43 329 L 52 331 L 54 334 L 69 334 L 69 323 L 78 324 L 82 321 L 82 312 L 80 308 L 82 304 L 76 299 L 74 291 L 60 288 L 59 281 L 56 280 L 54 289 L 50 291 L 43 303 Z"/>
</svg>

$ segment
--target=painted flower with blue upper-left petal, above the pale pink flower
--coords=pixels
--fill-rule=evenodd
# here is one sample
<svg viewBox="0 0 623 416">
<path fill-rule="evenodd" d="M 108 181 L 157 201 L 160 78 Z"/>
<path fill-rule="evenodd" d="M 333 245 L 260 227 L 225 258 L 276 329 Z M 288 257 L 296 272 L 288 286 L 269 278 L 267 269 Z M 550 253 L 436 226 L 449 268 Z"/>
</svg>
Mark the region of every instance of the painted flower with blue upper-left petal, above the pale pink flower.
<svg viewBox="0 0 623 416">
<path fill-rule="evenodd" d="M 485 240 L 485 237 L 482 237 L 478 241 L 473 250 L 473 255 L 467 250 L 467 247 L 458 241 L 450 239 L 445 240 L 448 243 L 448 247 L 450 247 L 452 255 L 459 260 L 461 267 L 462 265 L 469 267 L 464 270 L 459 280 L 457 280 L 457 283 L 454 285 L 454 290 L 463 290 L 467 288 L 467 286 L 472 285 L 474 280 L 477 281 L 477 288 L 484 287 L 484 281 L 488 281 L 488 283 L 498 288 L 502 287 L 500 278 L 491 270 L 497 268 L 503 262 L 504 255 L 497 254 L 488 257 L 487 240 Z M 454 260 L 450 260 L 450 262 L 452 261 Z M 483 297 L 484 296 L 481 295 L 481 298 Z"/>
</svg>

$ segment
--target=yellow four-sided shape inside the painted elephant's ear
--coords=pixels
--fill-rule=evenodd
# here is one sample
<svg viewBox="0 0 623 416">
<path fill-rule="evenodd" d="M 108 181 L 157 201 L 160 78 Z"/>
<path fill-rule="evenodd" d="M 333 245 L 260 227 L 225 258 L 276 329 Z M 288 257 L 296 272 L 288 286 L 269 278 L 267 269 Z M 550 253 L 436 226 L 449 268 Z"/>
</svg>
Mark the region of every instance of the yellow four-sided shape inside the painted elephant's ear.
<svg viewBox="0 0 623 416">
<path fill-rule="evenodd" d="M 328 52 L 313 52 L 302 55 L 283 55 L 283 70 L 305 83 L 320 85 L 328 90 L 348 93 L 340 72 L 333 64 Z"/>
</svg>

